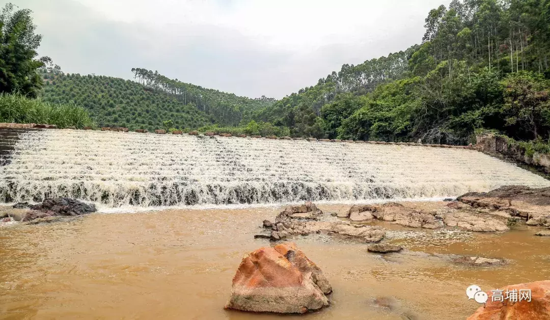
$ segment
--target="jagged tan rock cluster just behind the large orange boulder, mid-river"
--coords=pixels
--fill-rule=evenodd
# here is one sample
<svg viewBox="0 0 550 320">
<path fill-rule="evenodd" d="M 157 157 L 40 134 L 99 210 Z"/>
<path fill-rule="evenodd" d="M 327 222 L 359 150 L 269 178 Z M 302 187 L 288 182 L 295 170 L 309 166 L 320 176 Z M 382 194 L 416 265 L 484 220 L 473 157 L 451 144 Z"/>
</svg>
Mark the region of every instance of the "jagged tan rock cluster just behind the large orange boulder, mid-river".
<svg viewBox="0 0 550 320">
<path fill-rule="evenodd" d="M 321 221 L 322 215 L 323 212 L 311 202 L 306 202 L 302 206 L 287 207 L 279 213 L 272 224 L 271 240 L 281 240 L 291 235 L 326 233 L 377 242 L 382 240 L 386 233 L 380 227 L 352 225 L 336 218 Z"/>
</svg>

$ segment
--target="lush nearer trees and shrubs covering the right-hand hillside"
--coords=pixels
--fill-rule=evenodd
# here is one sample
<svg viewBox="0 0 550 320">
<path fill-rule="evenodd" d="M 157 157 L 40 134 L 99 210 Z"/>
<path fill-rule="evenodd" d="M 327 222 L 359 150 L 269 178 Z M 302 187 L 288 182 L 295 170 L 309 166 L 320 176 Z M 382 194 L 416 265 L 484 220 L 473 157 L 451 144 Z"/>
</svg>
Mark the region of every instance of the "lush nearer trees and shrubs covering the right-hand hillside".
<svg viewBox="0 0 550 320">
<path fill-rule="evenodd" d="M 401 79 L 321 108 L 329 137 L 465 144 L 478 128 L 550 131 L 550 1 L 458 0 L 426 18 Z M 313 109 L 313 108 L 312 108 Z"/>
</svg>

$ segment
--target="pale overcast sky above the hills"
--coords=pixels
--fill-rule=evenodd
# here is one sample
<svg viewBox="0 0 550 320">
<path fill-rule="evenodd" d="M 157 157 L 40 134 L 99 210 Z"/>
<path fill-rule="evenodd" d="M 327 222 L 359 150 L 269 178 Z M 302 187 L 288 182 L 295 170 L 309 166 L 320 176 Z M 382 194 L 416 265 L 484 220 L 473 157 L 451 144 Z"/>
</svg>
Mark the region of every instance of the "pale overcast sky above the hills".
<svg viewBox="0 0 550 320">
<path fill-rule="evenodd" d="M 281 98 L 419 43 L 448 0 L 12 0 L 34 11 L 41 56 L 65 73 L 132 79 L 131 68 Z"/>
</svg>

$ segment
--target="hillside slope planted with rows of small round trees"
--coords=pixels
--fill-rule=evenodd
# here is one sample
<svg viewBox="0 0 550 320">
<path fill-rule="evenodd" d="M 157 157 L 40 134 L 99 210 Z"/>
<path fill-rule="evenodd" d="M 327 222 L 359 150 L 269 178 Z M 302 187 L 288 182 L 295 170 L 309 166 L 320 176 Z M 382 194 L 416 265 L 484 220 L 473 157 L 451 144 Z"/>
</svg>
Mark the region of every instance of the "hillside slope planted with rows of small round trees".
<svg viewBox="0 0 550 320">
<path fill-rule="evenodd" d="M 174 128 L 194 129 L 213 122 L 195 107 L 134 81 L 63 73 L 44 76 L 45 101 L 83 106 L 99 126 L 154 130 L 171 120 Z"/>
</svg>

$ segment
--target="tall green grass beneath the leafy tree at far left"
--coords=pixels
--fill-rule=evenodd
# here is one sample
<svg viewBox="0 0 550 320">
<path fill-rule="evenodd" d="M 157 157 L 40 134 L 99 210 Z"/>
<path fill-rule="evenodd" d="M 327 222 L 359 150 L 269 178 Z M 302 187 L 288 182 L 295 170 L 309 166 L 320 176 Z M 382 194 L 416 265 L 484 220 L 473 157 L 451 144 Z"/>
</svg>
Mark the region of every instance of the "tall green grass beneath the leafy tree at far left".
<svg viewBox="0 0 550 320">
<path fill-rule="evenodd" d="M 70 104 L 54 104 L 18 94 L 0 93 L 0 122 L 54 124 L 58 128 L 95 126 L 88 112 Z"/>
</svg>

